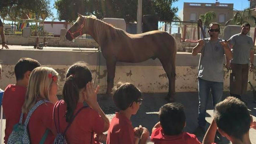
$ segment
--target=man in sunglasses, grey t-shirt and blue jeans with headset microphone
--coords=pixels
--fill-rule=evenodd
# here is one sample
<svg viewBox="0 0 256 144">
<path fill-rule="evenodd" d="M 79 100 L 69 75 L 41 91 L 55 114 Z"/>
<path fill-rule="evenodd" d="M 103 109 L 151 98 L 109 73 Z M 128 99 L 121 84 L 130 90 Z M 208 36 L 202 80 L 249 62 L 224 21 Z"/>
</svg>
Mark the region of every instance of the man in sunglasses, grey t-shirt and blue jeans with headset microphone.
<svg viewBox="0 0 256 144">
<path fill-rule="evenodd" d="M 220 26 L 218 23 L 209 25 L 209 38 L 198 40 L 193 48 L 192 55 L 196 56 L 201 51 L 198 66 L 198 127 L 194 134 L 202 136 L 205 133 L 205 115 L 209 92 L 211 90 L 213 106 L 221 101 L 223 95 L 223 60 L 224 54 L 227 60 L 232 59 L 232 52 L 228 47 L 228 41 L 218 38 Z"/>
</svg>

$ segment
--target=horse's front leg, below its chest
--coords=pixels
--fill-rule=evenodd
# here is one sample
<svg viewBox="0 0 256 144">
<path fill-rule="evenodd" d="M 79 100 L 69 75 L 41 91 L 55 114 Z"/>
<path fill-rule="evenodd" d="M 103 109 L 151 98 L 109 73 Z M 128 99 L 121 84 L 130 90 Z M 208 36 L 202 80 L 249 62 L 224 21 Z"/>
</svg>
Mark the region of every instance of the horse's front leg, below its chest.
<svg viewBox="0 0 256 144">
<path fill-rule="evenodd" d="M 107 92 L 106 94 L 107 95 L 110 95 L 111 93 L 111 90 L 114 86 L 114 78 L 115 78 L 115 64 L 116 64 L 116 61 L 114 60 L 106 60 L 107 62 L 107 74 L 108 74 L 108 77 L 107 77 L 107 83 L 108 83 L 108 86 L 107 86 Z"/>
</svg>

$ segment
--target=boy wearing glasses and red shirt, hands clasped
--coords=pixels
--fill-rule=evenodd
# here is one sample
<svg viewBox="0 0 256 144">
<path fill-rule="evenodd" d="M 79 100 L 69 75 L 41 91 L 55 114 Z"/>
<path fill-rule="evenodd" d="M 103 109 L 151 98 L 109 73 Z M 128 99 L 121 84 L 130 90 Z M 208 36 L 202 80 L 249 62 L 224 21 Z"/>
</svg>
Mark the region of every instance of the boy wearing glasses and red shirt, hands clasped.
<svg viewBox="0 0 256 144">
<path fill-rule="evenodd" d="M 107 144 L 145 144 L 149 136 L 149 132 L 141 125 L 133 128 L 131 125 L 131 115 L 135 115 L 142 103 L 141 91 L 132 83 L 118 83 L 113 94 L 115 106 L 120 109 L 119 113 L 115 113 L 115 117 L 111 120 Z"/>
</svg>

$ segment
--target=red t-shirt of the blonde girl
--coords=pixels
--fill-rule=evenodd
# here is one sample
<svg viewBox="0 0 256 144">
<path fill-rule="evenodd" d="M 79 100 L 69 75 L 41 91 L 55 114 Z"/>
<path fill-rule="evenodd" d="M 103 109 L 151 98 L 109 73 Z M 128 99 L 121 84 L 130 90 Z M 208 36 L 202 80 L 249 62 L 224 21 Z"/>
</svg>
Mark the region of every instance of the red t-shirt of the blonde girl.
<svg viewBox="0 0 256 144">
<path fill-rule="evenodd" d="M 52 119 L 54 104 L 50 102 L 46 102 L 38 106 L 38 108 L 32 113 L 29 124 L 28 124 L 28 132 L 31 144 L 38 144 L 43 135 L 45 134 L 46 129 L 49 129 L 49 133 L 45 140 L 45 143 L 53 143 L 54 142 L 54 125 Z M 23 122 L 25 121 L 27 114 L 24 114 Z"/>
</svg>

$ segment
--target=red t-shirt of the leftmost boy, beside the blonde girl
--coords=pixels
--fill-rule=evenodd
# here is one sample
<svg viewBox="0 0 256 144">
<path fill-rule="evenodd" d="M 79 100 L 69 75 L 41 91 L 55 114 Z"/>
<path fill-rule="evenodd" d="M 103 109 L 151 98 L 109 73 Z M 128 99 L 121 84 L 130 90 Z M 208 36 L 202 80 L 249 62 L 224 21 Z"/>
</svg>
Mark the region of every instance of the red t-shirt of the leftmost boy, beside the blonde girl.
<svg viewBox="0 0 256 144">
<path fill-rule="evenodd" d="M 6 118 L 4 143 L 7 143 L 9 135 L 13 131 L 13 126 L 19 123 L 22 105 L 25 101 L 26 87 L 8 85 L 3 94 L 3 113 Z"/>
</svg>

